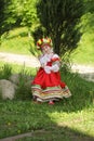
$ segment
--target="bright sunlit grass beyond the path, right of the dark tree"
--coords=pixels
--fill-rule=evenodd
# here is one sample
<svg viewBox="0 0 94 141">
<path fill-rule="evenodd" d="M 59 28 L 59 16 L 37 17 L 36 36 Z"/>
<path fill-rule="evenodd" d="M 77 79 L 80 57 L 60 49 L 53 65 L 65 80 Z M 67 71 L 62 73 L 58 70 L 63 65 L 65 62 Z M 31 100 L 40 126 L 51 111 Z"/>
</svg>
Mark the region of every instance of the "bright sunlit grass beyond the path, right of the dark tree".
<svg viewBox="0 0 94 141">
<path fill-rule="evenodd" d="M 94 66 L 94 33 L 83 34 L 78 48 L 72 52 L 73 63 Z"/>
</svg>

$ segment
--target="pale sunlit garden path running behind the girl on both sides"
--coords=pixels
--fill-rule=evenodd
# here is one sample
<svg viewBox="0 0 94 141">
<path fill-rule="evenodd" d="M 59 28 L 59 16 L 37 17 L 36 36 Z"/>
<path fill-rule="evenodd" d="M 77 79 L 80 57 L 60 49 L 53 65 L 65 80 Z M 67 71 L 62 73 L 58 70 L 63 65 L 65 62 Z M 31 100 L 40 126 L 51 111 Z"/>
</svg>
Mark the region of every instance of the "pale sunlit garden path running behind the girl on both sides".
<svg viewBox="0 0 94 141">
<path fill-rule="evenodd" d="M 40 66 L 38 59 L 33 55 L 21 55 L 8 52 L 0 52 L 0 61 L 6 63 L 21 64 L 30 67 Z M 85 77 L 89 80 L 94 81 L 94 66 L 72 64 L 71 70 L 78 72 L 81 76 Z"/>
</svg>

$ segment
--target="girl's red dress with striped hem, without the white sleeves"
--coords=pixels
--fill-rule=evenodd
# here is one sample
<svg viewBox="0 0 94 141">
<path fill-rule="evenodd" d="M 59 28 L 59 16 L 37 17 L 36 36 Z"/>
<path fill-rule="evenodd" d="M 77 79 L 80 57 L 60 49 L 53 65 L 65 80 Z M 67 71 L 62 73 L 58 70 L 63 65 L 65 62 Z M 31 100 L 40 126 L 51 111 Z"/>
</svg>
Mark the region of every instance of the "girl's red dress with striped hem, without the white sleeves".
<svg viewBox="0 0 94 141">
<path fill-rule="evenodd" d="M 59 61 L 59 57 L 55 55 L 50 57 L 46 62 L 46 66 L 52 67 L 55 62 Z M 45 102 L 50 100 L 57 100 L 68 98 L 71 95 L 68 87 L 61 79 L 58 70 L 51 70 L 48 74 L 43 67 L 40 67 L 32 84 L 32 95 L 39 98 L 40 101 Z"/>
</svg>

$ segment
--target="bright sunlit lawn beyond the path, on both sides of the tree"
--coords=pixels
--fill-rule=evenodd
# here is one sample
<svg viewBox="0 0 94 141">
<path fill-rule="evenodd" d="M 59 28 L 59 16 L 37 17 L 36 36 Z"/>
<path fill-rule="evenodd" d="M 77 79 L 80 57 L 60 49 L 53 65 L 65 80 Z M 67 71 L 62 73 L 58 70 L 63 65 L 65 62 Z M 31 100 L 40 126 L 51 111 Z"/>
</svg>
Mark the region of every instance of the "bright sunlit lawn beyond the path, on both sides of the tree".
<svg viewBox="0 0 94 141">
<path fill-rule="evenodd" d="M 33 38 L 28 37 L 26 27 L 14 28 L 1 37 L 0 52 L 11 52 L 30 55 L 30 46 L 35 47 Z M 72 52 L 70 60 L 73 63 L 94 65 L 94 33 L 84 33 L 78 48 Z"/>
</svg>

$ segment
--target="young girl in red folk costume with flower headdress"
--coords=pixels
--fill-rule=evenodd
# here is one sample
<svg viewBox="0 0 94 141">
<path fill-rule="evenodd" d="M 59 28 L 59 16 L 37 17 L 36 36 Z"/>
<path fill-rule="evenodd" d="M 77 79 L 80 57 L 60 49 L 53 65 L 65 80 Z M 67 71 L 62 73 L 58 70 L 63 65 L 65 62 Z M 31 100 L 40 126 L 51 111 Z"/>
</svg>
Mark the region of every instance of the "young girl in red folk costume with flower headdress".
<svg viewBox="0 0 94 141">
<path fill-rule="evenodd" d="M 52 50 L 52 40 L 50 38 L 39 39 L 37 47 L 42 55 L 39 57 L 41 67 L 31 84 L 33 100 L 54 104 L 59 99 L 69 98 L 71 93 L 66 84 L 61 80 L 59 56 Z"/>
</svg>

